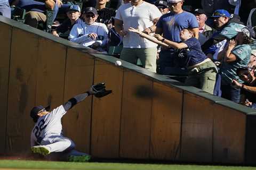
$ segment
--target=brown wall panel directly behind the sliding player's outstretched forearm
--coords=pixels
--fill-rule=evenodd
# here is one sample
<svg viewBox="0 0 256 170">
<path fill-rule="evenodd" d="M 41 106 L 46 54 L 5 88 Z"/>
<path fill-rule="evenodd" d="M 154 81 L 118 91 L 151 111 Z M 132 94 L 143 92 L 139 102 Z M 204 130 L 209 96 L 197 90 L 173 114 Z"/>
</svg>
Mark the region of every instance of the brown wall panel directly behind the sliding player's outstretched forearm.
<svg viewBox="0 0 256 170">
<path fill-rule="evenodd" d="M 93 83 L 94 60 L 74 48 L 68 48 L 65 75 L 64 102 L 86 92 Z M 92 97 L 89 96 L 73 107 L 63 117 L 63 129 L 67 137 L 76 143 L 76 149 L 90 151 Z"/>
</svg>

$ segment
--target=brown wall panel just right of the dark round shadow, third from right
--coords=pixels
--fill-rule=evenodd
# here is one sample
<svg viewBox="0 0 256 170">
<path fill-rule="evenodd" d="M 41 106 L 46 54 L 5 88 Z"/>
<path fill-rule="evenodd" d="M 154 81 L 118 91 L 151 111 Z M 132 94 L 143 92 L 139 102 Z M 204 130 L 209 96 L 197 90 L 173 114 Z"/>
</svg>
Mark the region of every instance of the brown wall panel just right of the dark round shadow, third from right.
<svg viewBox="0 0 256 170">
<path fill-rule="evenodd" d="M 182 96 L 182 90 L 154 82 L 150 158 L 179 158 Z"/>
</svg>

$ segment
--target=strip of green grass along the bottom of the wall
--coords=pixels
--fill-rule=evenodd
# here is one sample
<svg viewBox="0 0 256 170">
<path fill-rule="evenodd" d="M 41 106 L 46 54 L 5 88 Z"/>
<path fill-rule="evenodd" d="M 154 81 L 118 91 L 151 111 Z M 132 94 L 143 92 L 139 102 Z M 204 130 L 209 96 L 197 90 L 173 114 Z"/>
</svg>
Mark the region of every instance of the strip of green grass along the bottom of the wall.
<svg viewBox="0 0 256 170">
<path fill-rule="evenodd" d="M 256 169 L 256 167 L 242 166 L 204 166 L 204 165 L 166 165 L 166 164 L 125 164 L 125 163 L 69 163 L 69 162 L 46 162 L 27 160 L 0 160 L 0 168 L 20 168 L 20 169 L 161 169 L 161 170 L 210 170 L 210 169 Z"/>
</svg>

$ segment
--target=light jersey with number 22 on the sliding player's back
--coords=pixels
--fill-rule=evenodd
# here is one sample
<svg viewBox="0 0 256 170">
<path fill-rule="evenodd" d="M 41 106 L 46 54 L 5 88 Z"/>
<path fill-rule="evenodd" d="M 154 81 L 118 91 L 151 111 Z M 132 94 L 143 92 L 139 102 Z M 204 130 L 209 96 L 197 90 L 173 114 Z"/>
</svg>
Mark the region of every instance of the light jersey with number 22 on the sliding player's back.
<svg viewBox="0 0 256 170">
<path fill-rule="evenodd" d="M 40 145 L 42 139 L 51 135 L 63 135 L 61 118 L 67 112 L 63 105 L 54 108 L 50 113 L 39 117 L 31 131 L 31 146 Z"/>
</svg>

